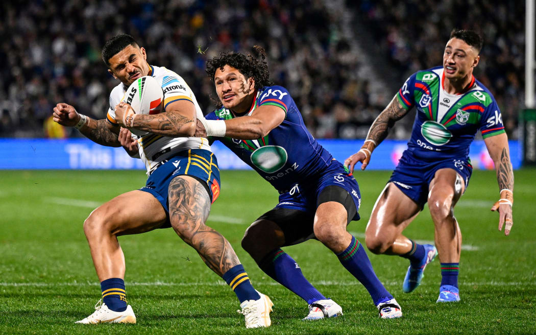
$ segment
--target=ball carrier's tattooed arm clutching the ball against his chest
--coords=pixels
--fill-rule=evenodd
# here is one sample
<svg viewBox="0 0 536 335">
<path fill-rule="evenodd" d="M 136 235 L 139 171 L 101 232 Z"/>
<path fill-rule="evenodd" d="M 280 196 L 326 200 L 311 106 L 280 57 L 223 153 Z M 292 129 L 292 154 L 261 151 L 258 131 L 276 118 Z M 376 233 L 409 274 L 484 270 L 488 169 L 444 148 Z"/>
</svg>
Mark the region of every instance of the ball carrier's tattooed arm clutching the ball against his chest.
<svg viewBox="0 0 536 335">
<path fill-rule="evenodd" d="M 170 137 L 190 137 L 196 131 L 196 109 L 191 101 L 172 102 L 164 113 L 155 115 L 136 114 L 125 102 L 120 102 L 114 110 L 115 120 L 126 128 Z"/>
</svg>

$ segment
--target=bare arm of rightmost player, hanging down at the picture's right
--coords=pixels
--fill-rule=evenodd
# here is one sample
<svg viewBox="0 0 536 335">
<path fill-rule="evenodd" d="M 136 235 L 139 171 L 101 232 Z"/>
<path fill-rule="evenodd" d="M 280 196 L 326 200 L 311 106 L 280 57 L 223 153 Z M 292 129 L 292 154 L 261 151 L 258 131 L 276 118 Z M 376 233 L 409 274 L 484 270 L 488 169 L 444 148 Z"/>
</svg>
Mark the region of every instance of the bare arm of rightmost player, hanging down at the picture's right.
<svg viewBox="0 0 536 335">
<path fill-rule="evenodd" d="M 513 205 L 513 170 L 510 162 L 510 152 L 508 148 L 508 137 L 505 133 L 491 136 L 484 139 L 490 157 L 495 163 L 497 182 L 501 193 L 501 198 L 493 205 L 492 211 L 499 213 L 499 231 L 503 224 L 504 235 L 509 235 L 512 229 L 512 205 Z"/>
</svg>

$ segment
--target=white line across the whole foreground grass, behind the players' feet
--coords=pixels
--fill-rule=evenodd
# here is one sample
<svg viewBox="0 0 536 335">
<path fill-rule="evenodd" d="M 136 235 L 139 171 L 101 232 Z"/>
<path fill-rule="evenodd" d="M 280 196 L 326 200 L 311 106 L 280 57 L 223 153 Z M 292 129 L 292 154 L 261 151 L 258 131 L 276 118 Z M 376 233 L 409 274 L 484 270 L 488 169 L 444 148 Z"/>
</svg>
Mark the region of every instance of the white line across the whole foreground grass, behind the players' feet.
<svg viewBox="0 0 536 335">
<path fill-rule="evenodd" d="M 355 281 L 332 281 L 321 280 L 311 283 L 312 285 L 323 286 L 361 286 L 362 284 Z M 383 282 L 384 285 L 399 285 L 398 281 Z M 126 286 L 227 286 L 225 281 L 210 281 L 210 282 L 126 282 Z M 263 282 L 260 286 L 277 286 L 277 282 Z M 421 284 L 427 286 L 426 284 Z M 434 284 L 435 285 L 435 284 Z M 482 281 L 482 282 L 460 282 L 462 286 L 536 286 L 536 281 Z M 98 282 L 0 282 L 0 286 L 4 287 L 54 287 L 54 286 L 100 286 Z M 432 284 L 428 284 L 432 286 Z"/>
</svg>

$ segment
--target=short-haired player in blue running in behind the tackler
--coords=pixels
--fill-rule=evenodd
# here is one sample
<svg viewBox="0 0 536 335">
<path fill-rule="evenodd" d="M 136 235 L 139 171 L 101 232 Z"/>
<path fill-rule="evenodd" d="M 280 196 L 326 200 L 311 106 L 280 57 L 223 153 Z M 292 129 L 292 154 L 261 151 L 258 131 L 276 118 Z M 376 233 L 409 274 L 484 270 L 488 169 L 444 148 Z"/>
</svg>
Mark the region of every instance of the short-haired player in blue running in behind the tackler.
<svg viewBox="0 0 536 335">
<path fill-rule="evenodd" d="M 512 228 L 513 172 L 508 138 L 493 95 L 473 76 L 482 38 L 475 32 L 453 30 L 446 43 L 443 66 L 419 71 L 406 80 L 391 103 L 370 127 L 361 150 L 345 165 L 353 172 L 366 168 L 374 148 L 389 128 L 415 107 L 412 136 L 397 168 L 379 195 L 366 230 L 367 247 L 375 254 L 410 260 L 403 290 L 419 286 L 426 265 L 437 251 L 442 280 L 437 302 L 459 301 L 458 272 L 461 233 L 454 206 L 467 188 L 472 173 L 469 145 L 478 130 L 495 163 L 500 199 L 492 207 L 499 215 L 498 229 Z M 403 230 L 428 202 L 435 225 L 434 245 L 420 245 Z"/>
</svg>

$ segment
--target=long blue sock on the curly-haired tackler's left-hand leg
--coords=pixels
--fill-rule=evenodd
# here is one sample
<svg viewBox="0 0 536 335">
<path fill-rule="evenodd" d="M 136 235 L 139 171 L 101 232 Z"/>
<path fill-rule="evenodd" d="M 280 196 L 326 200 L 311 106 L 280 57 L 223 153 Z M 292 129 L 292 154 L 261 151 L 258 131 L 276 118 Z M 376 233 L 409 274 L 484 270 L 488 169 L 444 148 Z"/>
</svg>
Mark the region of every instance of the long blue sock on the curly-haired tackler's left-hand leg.
<svg viewBox="0 0 536 335">
<path fill-rule="evenodd" d="M 273 280 L 285 286 L 308 304 L 326 297 L 311 285 L 301 272 L 300 266 L 281 249 L 269 252 L 259 263 L 259 267 Z"/>
</svg>

